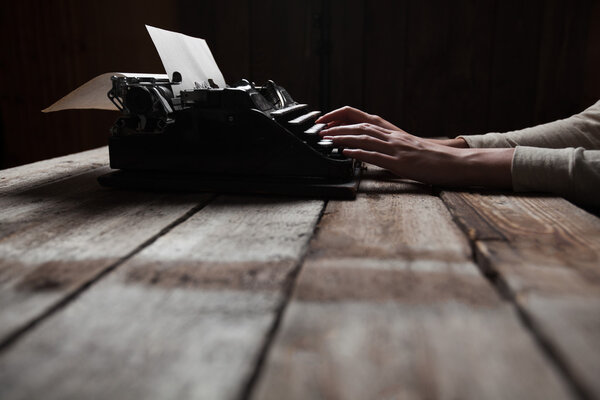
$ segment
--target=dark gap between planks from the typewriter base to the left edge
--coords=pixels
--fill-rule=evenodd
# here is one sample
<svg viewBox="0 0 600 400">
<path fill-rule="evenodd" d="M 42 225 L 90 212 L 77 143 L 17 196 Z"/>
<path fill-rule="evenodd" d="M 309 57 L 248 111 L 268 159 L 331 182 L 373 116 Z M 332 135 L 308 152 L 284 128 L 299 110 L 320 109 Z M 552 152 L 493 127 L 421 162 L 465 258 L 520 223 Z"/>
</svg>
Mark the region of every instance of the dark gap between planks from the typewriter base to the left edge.
<svg viewBox="0 0 600 400">
<path fill-rule="evenodd" d="M 130 258 L 132 258 L 133 256 L 135 256 L 137 253 L 139 253 L 140 251 L 142 251 L 146 247 L 150 246 L 152 243 L 156 242 L 161 236 L 164 236 L 167 233 L 169 233 L 176 226 L 178 226 L 178 225 L 182 224 L 183 222 L 187 221 L 191 216 L 193 216 L 198 211 L 200 211 L 204 207 L 206 207 L 206 205 L 209 204 L 212 200 L 214 200 L 215 197 L 216 197 L 215 194 L 209 195 L 203 201 L 201 201 L 196 206 L 194 206 L 190 210 L 188 210 L 181 217 L 177 218 L 175 221 L 171 222 L 169 225 L 167 225 L 166 227 L 164 227 L 163 229 L 161 229 L 156 235 L 150 237 L 149 239 L 147 239 L 146 241 L 144 241 L 143 243 L 141 243 L 139 246 L 137 246 L 136 248 L 134 248 L 132 251 L 130 251 L 129 253 L 127 253 L 126 255 L 124 255 L 123 257 L 121 257 L 120 259 L 118 259 L 116 262 L 114 262 L 111 265 L 109 265 L 108 267 L 106 267 L 106 268 L 98 271 L 98 273 L 96 275 L 94 275 L 91 279 L 89 279 L 88 281 L 86 281 L 85 283 L 83 283 L 81 286 L 73 289 L 70 293 L 66 294 L 62 299 L 60 299 L 56 303 L 50 305 L 46 309 L 46 311 L 40 313 L 36 318 L 32 319 L 27 324 L 23 325 L 22 327 L 18 328 L 14 332 L 12 332 L 2 342 L 0 342 L 0 353 L 4 352 L 13 343 L 15 343 L 17 340 L 19 340 L 20 338 L 22 338 L 28 332 L 32 331 L 41 322 L 43 322 L 44 320 L 46 320 L 49 317 L 51 317 L 52 315 L 54 315 L 56 312 L 60 311 L 64 307 L 66 307 L 72 301 L 76 300 L 83 292 L 85 292 L 92 285 L 94 285 L 95 283 L 97 283 L 98 281 L 100 281 L 102 278 L 104 278 L 105 276 L 107 276 L 109 273 L 111 273 L 112 271 L 114 271 L 115 269 L 117 269 L 120 265 L 122 265 L 123 263 L 125 263 L 127 260 L 129 260 Z"/>
</svg>

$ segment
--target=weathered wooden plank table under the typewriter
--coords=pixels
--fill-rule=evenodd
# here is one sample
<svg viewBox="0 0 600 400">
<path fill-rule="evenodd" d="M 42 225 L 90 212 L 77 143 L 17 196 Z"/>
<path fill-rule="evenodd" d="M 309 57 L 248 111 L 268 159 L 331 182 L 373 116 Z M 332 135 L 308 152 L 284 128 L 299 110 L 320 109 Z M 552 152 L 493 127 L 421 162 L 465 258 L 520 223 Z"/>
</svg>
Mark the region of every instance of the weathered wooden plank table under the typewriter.
<svg viewBox="0 0 600 400">
<path fill-rule="evenodd" d="M 600 219 L 369 169 L 355 201 L 0 171 L 2 399 L 600 398 Z"/>
</svg>

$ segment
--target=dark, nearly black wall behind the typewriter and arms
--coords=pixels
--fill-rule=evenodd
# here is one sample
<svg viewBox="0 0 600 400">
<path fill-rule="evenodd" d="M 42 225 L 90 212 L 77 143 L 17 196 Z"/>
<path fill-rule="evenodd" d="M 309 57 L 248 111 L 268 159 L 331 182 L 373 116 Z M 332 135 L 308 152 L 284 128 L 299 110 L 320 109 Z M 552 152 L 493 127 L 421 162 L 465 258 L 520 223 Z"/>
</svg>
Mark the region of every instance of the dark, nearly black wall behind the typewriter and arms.
<svg viewBox="0 0 600 400">
<path fill-rule="evenodd" d="M 104 72 L 163 72 L 144 24 L 207 40 L 225 79 L 273 79 L 421 136 L 506 131 L 600 98 L 600 2 L 18 1 L 2 6 L 0 168 L 103 146 L 116 112 L 42 114 Z"/>
</svg>

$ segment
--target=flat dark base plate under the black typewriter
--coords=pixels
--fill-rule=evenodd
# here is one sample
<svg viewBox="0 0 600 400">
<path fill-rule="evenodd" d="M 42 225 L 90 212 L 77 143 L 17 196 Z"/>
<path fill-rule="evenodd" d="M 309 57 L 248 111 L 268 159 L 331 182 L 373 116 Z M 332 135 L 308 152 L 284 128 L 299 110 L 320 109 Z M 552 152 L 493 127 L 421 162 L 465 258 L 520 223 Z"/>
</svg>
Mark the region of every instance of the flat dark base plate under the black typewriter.
<svg viewBox="0 0 600 400">
<path fill-rule="evenodd" d="M 158 171 L 115 171 L 98 177 L 102 186 L 121 189 L 212 192 L 230 194 L 268 194 L 318 199 L 354 199 L 360 182 L 360 168 L 352 180 L 327 182 L 303 178 L 248 176 L 205 176 Z"/>
</svg>

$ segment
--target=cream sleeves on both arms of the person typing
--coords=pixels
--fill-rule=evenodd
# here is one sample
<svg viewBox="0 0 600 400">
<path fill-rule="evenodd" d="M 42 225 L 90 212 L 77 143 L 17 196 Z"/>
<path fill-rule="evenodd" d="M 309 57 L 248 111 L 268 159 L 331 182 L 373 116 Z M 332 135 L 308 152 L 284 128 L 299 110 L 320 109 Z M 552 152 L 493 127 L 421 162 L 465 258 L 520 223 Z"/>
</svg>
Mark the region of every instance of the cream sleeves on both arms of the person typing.
<svg viewBox="0 0 600 400">
<path fill-rule="evenodd" d="M 507 133 L 460 136 L 469 147 L 516 147 L 516 192 L 550 192 L 600 207 L 600 101 L 581 114 Z"/>
</svg>

